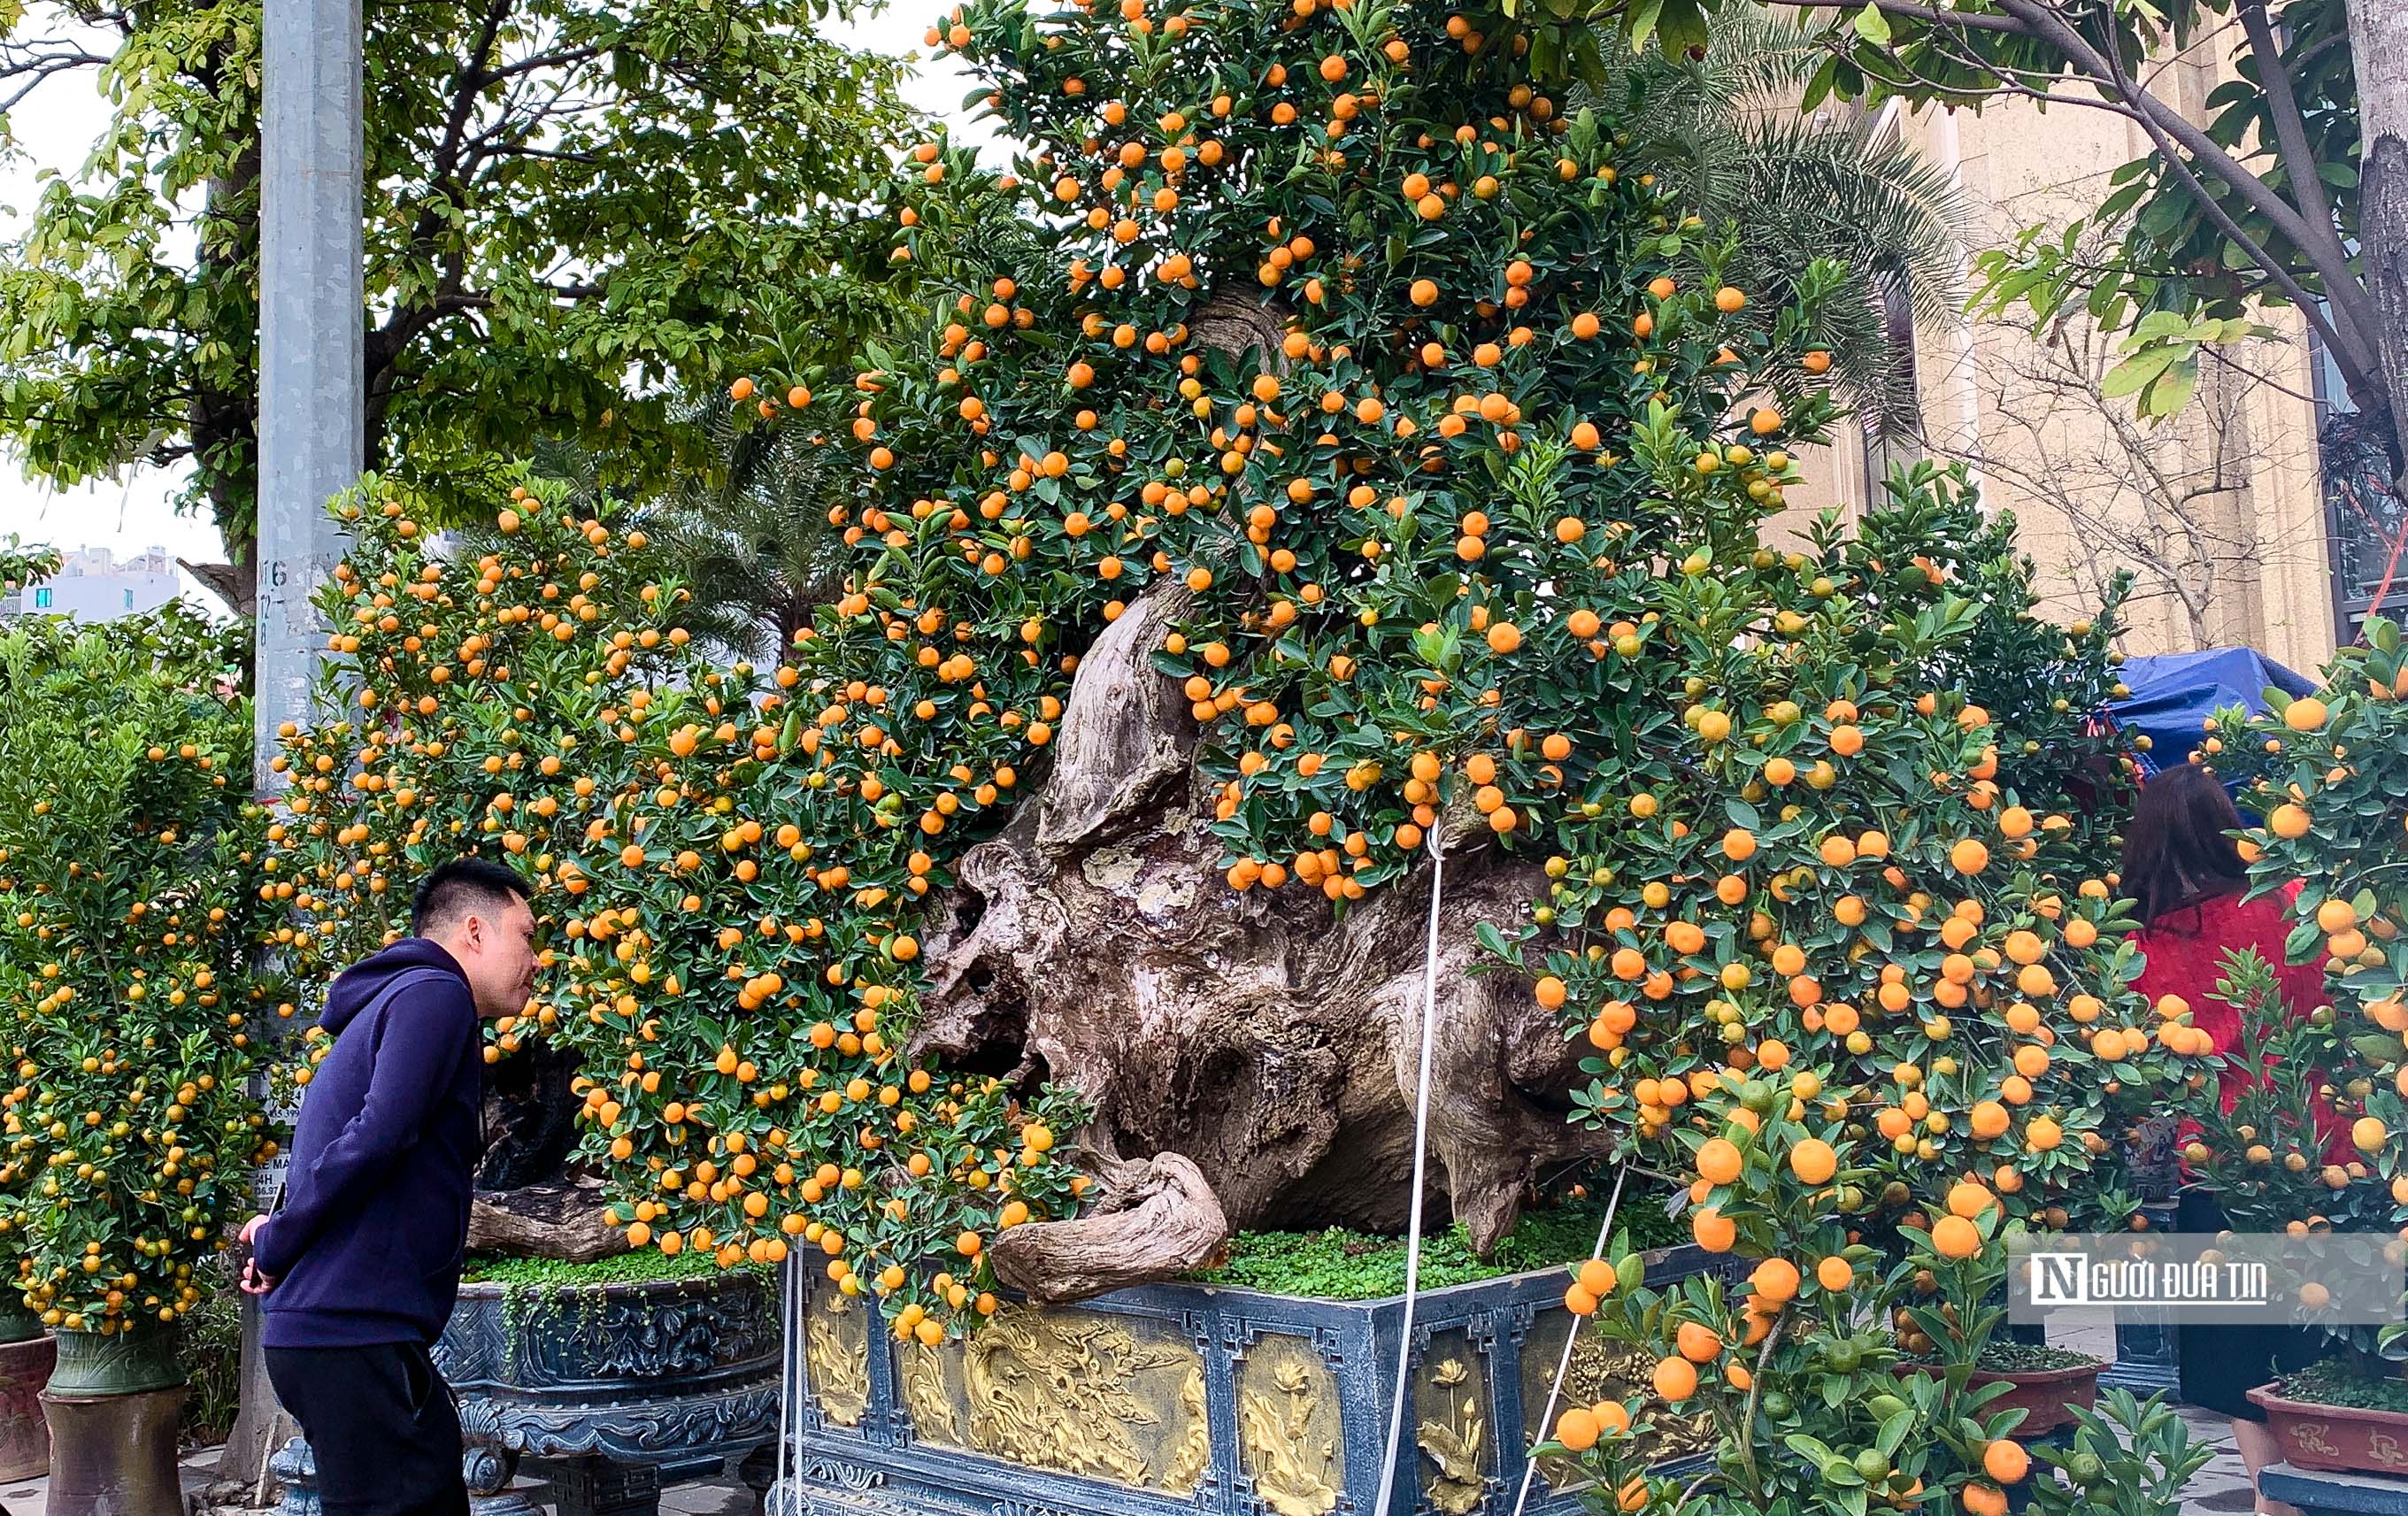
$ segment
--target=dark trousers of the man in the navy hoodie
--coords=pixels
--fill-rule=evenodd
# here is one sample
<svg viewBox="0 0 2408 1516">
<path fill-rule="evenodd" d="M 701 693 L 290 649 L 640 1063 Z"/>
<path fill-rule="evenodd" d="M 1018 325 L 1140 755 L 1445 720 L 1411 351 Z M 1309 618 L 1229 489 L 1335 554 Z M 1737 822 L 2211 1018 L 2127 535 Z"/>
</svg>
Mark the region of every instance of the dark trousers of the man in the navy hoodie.
<svg viewBox="0 0 2408 1516">
<path fill-rule="evenodd" d="M 460 1408 L 424 1343 L 270 1348 L 267 1381 L 318 1456 L 325 1516 L 465 1516 Z"/>
</svg>

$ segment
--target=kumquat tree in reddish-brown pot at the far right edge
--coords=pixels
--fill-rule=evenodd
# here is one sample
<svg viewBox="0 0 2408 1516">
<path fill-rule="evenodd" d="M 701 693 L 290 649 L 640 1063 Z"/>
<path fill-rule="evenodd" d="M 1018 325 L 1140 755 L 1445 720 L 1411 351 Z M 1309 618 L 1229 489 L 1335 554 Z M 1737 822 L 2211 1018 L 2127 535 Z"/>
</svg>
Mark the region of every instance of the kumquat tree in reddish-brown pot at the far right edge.
<svg viewBox="0 0 2408 1516">
<path fill-rule="evenodd" d="M 2372 618 L 2304 698 L 2264 719 L 2225 719 L 2201 758 L 2242 782 L 2259 825 L 2244 833 L 2254 890 L 2300 881 L 2292 963 L 2324 967 L 2329 1003 L 2295 1018 L 2271 965 L 2227 960 L 2215 996 L 2242 1030 L 2242 1066 L 2264 1068 L 2230 1112 L 2191 1102 L 2186 1157 L 2235 1225 L 2290 1232 L 2389 1232 L 2408 1249 L 2408 657 L 2398 626 Z M 2319 1326 L 2319 1302 L 2297 1314 Z M 2249 1393 L 2300 1468 L 2408 1473 L 2401 1328 L 2326 1326 L 2331 1357 Z"/>
</svg>

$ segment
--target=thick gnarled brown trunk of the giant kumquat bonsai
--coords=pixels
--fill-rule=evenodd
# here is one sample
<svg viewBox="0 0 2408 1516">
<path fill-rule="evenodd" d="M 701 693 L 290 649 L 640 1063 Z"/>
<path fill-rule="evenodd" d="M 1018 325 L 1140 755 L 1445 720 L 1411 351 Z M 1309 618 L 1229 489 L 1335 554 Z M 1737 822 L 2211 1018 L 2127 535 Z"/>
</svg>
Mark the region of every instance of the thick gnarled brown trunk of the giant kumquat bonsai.
<svg viewBox="0 0 2408 1516">
<path fill-rule="evenodd" d="M 1137 1201 L 1149 1227 L 1052 1225 L 1045 1254 L 1076 1261 L 1076 1280 L 1016 1259 L 1045 1295 L 1175 1275 L 1228 1227 L 1399 1230 L 1411 1201 L 1428 869 L 1336 919 L 1312 890 L 1228 888 L 1194 719 L 1149 662 L 1182 606 L 1185 590 L 1153 590 L 1084 655 L 1043 789 L 961 859 L 929 934 L 925 1049 L 1074 1085 L 1108 1177 L 1175 1153 L 1221 1213 L 1163 1177 Z M 1515 919 L 1539 859 L 1503 852 L 1469 811 L 1440 830 L 1430 1215 L 1486 1249 L 1544 1169 L 1594 1145 L 1565 1121 L 1577 1049 L 1529 979 L 1471 972 L 1474 924 Z"/>
</svg>

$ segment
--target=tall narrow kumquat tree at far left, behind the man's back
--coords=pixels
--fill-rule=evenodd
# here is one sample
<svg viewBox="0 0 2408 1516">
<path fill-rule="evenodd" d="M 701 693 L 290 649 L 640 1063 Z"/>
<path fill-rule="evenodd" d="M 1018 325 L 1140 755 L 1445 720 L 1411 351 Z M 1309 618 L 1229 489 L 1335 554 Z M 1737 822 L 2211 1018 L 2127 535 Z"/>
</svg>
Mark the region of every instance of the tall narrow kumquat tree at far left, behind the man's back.
<svg viewBox="0 0 2408 1516">
<path fill-rule="evenodd" d="M 267 821 L 229 635 L 178 606 L 17 621 L 0 710 L 0 1249 L 70 1374 L 200 1299 L 277 1150 L 250 1076 L 291 1001 L 255 965 Z"/>
</svg>

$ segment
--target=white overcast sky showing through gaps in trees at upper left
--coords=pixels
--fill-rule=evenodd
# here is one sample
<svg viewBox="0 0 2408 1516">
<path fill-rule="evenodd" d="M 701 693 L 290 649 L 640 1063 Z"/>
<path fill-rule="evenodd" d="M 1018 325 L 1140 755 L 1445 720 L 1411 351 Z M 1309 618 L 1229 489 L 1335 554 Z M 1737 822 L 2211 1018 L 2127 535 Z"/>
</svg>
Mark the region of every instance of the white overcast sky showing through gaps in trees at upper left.
<svg viewBox="0 0 2408 1516">
<path fill-rule="evenodd" d="M 934 5 L 925 0 L 886 7 L 857 22 L 828 22 L 826 31 L 879 53 L 925 53 L 922 39 Z M 106 43 L 106 39 L 104 39 Z M 917 63 L 903 96 L 929 116 L 961 120 L 966 75 L 946 63 Z M 17 108 L 14 154 L 0 161 L 0 236 L 14 238 L 39 195 L 41 171 L 75 173 L 108 118 L 92 75 L 48 82 Z M 961 130 L 961 128 L 958 128 Z M 978 132 L 978 128 L 968 128 Z M 46 541 L 60 549 L 106 546 L 120 553 L 164 546 L 195 563 L 219 561 L 224 549 L 207 515 L 181 515 L 173 505 L 183 472 L 128 469 L 123 479 L 51 491 L 24 476 L 14 457 L 0 455 L 0 539 Z"/>
</svg>

